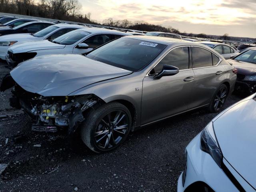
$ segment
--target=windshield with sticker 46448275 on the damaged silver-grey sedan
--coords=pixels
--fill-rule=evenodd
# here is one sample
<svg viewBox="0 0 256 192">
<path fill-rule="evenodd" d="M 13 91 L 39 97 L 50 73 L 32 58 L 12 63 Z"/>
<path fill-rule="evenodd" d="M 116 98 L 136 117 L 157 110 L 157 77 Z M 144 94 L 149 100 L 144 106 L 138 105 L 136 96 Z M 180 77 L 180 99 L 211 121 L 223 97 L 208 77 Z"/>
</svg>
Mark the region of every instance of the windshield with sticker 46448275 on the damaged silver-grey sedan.
<svg viewBox="0 0 256 192">
<path fill-rule="evenodd" d="M 150 64 L 165 47 L 144 40 L 119 38 L 90 52 L 86 57 L 135 72 Z"/>
</svg>

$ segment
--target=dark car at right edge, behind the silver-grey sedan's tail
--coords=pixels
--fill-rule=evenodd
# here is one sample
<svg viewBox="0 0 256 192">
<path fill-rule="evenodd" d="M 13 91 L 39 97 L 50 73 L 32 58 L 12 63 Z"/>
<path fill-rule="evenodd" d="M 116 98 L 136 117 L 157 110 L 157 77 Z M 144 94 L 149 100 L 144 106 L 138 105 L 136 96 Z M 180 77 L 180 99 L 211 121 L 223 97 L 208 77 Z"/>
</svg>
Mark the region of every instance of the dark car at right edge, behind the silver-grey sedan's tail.
<svg viewBox="0 0 256 192">
<path fill-rule="evenodd" d="M 256 92 L 256 48 L 228 60 L 237 69 L 235 90 L 252 94 Z"/>
</svg>

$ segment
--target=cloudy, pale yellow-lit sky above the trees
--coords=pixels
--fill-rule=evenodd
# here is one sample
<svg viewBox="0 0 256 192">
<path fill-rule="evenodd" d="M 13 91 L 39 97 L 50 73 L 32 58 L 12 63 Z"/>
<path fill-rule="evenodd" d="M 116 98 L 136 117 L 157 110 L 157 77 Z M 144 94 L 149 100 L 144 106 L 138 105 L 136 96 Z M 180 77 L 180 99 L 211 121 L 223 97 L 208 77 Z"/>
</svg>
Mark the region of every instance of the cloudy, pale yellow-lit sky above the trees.
<svg viewBox="0 0 256 192">
<path fill-rule="evenodd" d="M 256 38 L 256 0 L 80 0 L 91 18 L 128 19 L 180 32 Z"/>
</svg>

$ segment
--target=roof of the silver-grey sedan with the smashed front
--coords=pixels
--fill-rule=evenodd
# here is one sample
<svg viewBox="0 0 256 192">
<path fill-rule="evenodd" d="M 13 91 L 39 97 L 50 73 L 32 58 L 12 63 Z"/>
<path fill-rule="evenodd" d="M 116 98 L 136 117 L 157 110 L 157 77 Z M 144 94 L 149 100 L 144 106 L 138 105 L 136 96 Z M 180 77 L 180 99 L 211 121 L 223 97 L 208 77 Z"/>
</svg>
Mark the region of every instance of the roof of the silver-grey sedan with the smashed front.
<svg viewBox="0 0 256 192">
<path fill-rule="evenodd" d="M 185 41 L 182 39 L 159 37 L 159 36 L 134 35 L 134 36 L 128 36 L 128 37 L 122 37 L 122 38 L 133 38 L 133 39 L 137 39 L 137 40 L 149 41 L 149 42 L 154 42 L 154 43 L 159 43 L 159 44 L 164 44 L 164 45 L 178 43 L 178 42 L 194 44 L 194 42 L 189 42 L 189 41 Z"/>
</svg>

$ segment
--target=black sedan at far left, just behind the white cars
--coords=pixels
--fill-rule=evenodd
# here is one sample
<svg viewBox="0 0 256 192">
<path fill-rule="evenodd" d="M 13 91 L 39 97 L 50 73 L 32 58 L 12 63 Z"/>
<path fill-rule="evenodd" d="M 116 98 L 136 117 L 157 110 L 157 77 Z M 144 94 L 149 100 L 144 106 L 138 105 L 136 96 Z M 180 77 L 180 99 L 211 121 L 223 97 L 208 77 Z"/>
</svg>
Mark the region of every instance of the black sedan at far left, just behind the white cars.
<svg viewBox="0 0 256 192">
<path fill-rule="evenodd" d="M 0 36 L 8 34 L 17 34 L 17 33 L 35 33 L 38 32 L 54 23 L 44 22 L 44 21 L 34 21 L 28 22 L 17 27 L 1 27 Z"/>
</svg>

